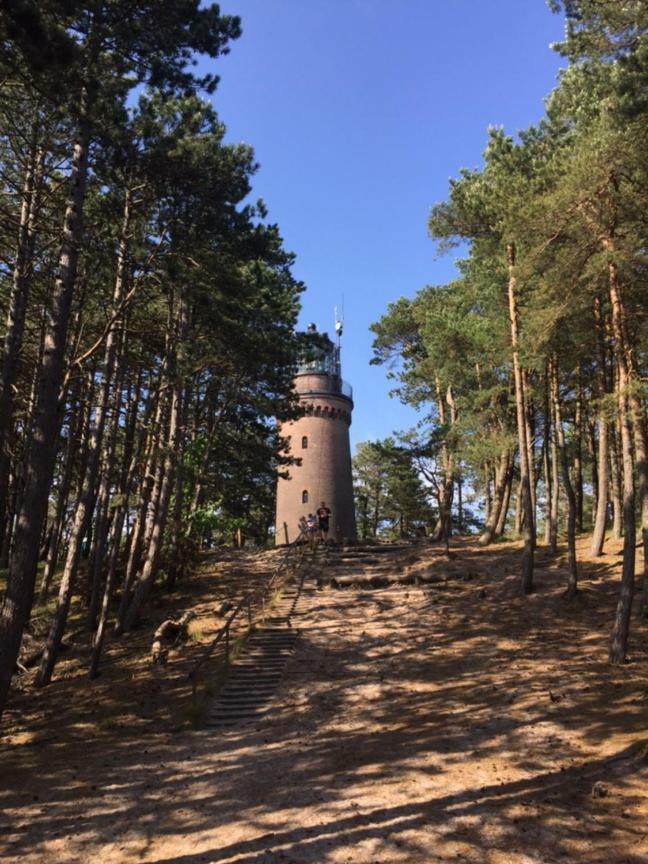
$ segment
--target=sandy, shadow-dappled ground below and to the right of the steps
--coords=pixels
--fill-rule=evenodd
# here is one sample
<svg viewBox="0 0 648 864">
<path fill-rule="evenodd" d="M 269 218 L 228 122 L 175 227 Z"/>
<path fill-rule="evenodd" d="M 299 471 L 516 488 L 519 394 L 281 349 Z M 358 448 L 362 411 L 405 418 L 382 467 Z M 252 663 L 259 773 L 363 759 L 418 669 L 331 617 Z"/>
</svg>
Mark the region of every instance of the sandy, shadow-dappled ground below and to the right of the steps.
<svg viewBox="0 0 648 864">
<path fill-rule="evenodd" d="M 155 716 L 84 729 L 59 703 L 57 734 L 51 713 L 39 726 L 32 709 L 22 731 L 14 713 L 0 858 L 646 864 L 647 634 L 636 624 L 631 662 L 605 663 L 610 551 L 571 603 L 542 556 L 519 597 L 504 544 L 433 560 L 464 577 L 445 585 L 307 582 L 272 712 L 233 731 Z"/>
</svg>

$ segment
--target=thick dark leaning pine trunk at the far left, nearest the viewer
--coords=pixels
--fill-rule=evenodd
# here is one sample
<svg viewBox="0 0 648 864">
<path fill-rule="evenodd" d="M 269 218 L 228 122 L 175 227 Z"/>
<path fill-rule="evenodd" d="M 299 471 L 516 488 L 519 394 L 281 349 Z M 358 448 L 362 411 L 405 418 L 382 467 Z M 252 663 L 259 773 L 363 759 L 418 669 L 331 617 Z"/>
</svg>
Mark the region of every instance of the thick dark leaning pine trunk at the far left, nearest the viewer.
<svg viewBox="0 0 648 864">
<path fill-rule="evenodd" d="M 69 196 L 65 207 L 63 243 L 45 332 L 38 394 L 30 424 L 30 454 L 25 486 L 13 538 L 7 588 L 0 610 L 0 713 L 9 694 L 23 629 L 34 596 L 38 542 L 47 502 L 58 441 L 59 394 L 63 380 L 65 343 L 74 294 L 82 215 L 88 172 L 88 91 L 83 89 L 80 122 L 75 137 Z"/>
</svg>

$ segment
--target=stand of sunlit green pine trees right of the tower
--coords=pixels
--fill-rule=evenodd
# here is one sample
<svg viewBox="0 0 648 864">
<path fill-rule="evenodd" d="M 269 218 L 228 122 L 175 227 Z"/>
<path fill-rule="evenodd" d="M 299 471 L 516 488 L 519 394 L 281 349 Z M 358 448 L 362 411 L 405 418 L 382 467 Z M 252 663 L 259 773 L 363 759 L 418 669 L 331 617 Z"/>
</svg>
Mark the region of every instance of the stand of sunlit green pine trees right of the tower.
<svg viewBox="0 0 648 864">
<path fill-rule="evenodd" d="M 409 448 L 434 468 L 438 539 L 464 478 L 483 503 L 482 544 L 514 510 L 524 593 L 537 543 L 555 552 L 566 535 L 570 596 L 577 533 L 591 532 L 592 556 L 607 531 L 623 537 L 619 663 L 637 575 L 648 611 L 648 4 L 550 6 L 569 62 L 546 114 L 518 138 L 491 129 L 483 167 L 451 181 L 428 228 L 440 252 L 461 250 L 459 276 L 393 303 L 373 362 L 429 419 Z"/>
</svg>

